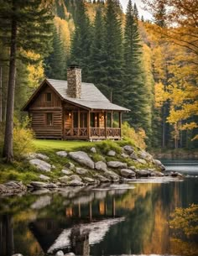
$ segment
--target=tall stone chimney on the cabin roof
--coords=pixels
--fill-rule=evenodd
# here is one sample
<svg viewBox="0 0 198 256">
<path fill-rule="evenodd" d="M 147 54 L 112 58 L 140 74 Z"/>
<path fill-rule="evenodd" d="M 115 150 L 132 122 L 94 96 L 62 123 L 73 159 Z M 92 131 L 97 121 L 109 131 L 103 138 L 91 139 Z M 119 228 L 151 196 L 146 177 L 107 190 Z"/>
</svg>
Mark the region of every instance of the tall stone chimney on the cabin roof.
<svg viewBox="0 0 198 256">
<path fill-rule="evenodd" d="M 81 68 L 79 65 L 70 65 L 67 69 L 67 95 L 81 98 Z"/>
</svg>

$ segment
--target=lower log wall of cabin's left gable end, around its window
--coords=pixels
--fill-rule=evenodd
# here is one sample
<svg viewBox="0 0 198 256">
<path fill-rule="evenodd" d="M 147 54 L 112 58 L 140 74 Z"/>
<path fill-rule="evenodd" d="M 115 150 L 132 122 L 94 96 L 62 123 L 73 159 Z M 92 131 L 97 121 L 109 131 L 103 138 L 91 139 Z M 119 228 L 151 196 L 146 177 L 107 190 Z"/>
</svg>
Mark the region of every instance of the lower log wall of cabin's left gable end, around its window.
<svg viewBox="0 0 198 256">
<path fill-rule="evenodd" d="M 52 113 L 52 125 L 47 125 L 46 115 Z M 32 128 L 36 138 L 62 138 L 62 112 L 34 111 L 30 112 Z"/>
</svg>

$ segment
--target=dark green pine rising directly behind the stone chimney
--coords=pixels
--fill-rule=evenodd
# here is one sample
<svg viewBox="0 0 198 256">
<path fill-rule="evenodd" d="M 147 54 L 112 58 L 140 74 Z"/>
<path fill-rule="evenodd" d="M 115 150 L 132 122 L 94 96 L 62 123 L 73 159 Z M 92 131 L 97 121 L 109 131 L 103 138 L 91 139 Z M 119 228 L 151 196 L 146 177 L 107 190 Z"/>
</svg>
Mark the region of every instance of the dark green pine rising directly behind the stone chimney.
<svg viewBox="0 0 198 256">
<path fill-rule="evenodd" d="M 82 80 L 88 81 L 91 55 L 91 25 L 83 0 L 79 0 L 76 30 L 71 43 L 70 62 L 81 66 Z"/>
</svg>

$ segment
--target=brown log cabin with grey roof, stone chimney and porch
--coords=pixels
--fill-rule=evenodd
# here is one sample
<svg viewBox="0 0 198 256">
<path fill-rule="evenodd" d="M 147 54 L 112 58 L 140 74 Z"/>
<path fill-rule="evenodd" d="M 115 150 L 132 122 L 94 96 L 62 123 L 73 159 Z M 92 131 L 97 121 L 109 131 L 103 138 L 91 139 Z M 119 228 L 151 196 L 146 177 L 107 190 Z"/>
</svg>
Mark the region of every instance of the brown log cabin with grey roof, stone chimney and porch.
<svg viewBox="0 0 198 256">
<path fill-rule="evenodd" d="M 22 110 L 29 112 L 36 138 L 86 140 L 121 139 L 122 112 L 129 111 L 81 82 L 78 65 L 70 65 L 67 81 L 45 79 Z"/>
</svg>

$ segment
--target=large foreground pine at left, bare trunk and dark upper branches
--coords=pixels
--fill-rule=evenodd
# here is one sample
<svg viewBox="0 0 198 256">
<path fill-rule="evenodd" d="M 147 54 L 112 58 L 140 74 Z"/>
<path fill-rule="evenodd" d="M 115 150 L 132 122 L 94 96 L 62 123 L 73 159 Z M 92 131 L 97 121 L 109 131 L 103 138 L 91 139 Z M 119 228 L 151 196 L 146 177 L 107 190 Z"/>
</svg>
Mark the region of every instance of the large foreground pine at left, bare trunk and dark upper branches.
<svg viewBox="0 0 198 256">
<path fill-rule="evenodd" d="M 40 0 L 1 0 L 0 24 L 3 42 L 10 49 L 6 128 L 3 157 L 13 160 L 13 107 L 16 80 L 16 60 L 23 50 L 49 52 L 52 16 L 41 8 Z M 21 50 L 21 51 L 20 51 Z"/>
</svg>

